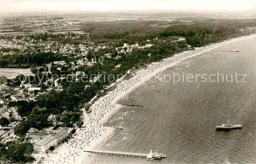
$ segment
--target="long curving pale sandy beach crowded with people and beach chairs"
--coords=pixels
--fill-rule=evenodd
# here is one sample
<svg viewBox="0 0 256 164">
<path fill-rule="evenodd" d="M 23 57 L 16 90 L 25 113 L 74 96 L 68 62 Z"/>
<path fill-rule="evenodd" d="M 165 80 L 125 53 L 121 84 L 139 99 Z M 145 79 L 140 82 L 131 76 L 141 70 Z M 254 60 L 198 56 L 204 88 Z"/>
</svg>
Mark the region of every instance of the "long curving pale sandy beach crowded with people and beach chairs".
<svg viewBox="0 0 256 164">
<path fill-rule="evenodd" d="M 145 81 L 149 80 L 157 73 L 172 67 L 182 60 L 198 56 L 205 53 L 212 48 L 218 48 L 222 45 L 243 39 L 256 37 L 250 35 L 240 38 L 234 38 L 228 41 L 212 44 L 205 47 L 197 48 L 192 51 L 184 51 L 175 54 L 174 57 L 167 58 L 160 62 L 152 63 L 144 69 L 134 72 L 134 76 L 129 80 L 123 80 L 115 90 L 109 92 L 105 96 L 99 98 L 92 106 L 92 113 L 87 114 L 83 110 L 84 127 L 77 129 L 75 138 L 70 140 L 68 144 L 63 144 L 56 148 L 53 153 L 44 154 L 45 160 L 43 163 L 90 163 L 90 156 L 83 152 L 84 149 L 97 149 L 106 140 L 111 138 L 113 129 L 110 127 L 103 127 L 103 123 L 107 121 L 111 115 L 117 112 L 122 105 L 118 105 L 117 101 L 125 95 L 132 92 Z"/>
</svg>

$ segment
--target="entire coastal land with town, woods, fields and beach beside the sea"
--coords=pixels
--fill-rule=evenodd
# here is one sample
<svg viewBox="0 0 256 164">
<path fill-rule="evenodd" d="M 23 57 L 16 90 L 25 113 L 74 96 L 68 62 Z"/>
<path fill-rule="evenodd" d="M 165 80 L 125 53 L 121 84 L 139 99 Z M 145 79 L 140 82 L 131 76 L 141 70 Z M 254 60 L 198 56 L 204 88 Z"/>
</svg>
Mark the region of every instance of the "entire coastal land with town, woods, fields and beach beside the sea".
<svg viewBox="0 0 256 164">
<path fill-rule="evenodd" d="M 92 19 L 1 20 L 0 160 L 80 163 L 84 148 L 115 132 L 102 125 L 121 107 L 118 98 L 152 73 L 222 44 L 212 43 L 256 32 L 253 19 Z"/>
</svg>

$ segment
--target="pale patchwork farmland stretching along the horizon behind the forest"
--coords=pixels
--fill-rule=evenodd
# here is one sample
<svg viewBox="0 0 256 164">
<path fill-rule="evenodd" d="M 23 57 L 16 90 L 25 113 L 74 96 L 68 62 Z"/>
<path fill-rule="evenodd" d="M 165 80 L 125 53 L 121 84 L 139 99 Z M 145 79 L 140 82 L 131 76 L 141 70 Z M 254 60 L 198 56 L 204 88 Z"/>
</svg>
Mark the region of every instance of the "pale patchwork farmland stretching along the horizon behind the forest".
<svg viewBox="0 0 256 164">
<path fill-rule="evenodd" d="M 240 15 L 240 17 L 238 17 Z M 41 16 L 5 16 L 1 19 L 1 35 L 30 35 L 38 33 L 84 34 L 82 26 L 90 22 L 99 21 L 120 21 L 120 20 L 147 20 L 162 21 L 163 23 L 151 24 L 158 28 L 166 28 L 175 25 L 174 21 L 184 22 L 184 24 L 194 24 L 194 18 L 209 18 L 209 13 L 79 13 L 63 15 L 44 15 Z M 210 17 L 218 18 L 251 18 L 251 15 L 241 13 L 229 14 L 210 14 Z M 170 23 L 172 22 L 172 23 Z M 177 22 L 180 24 L 180 22 Z"/>
</svg>

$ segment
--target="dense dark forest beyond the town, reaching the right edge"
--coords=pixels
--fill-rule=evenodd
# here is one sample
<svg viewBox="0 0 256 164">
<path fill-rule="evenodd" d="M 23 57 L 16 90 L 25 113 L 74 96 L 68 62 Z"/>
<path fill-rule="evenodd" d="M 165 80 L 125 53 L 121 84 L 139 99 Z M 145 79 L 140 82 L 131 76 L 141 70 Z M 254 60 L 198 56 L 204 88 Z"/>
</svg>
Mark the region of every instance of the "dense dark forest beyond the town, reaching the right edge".
<svg viewBox="0 0 256 164">
<path fill-rule="evenodd" d="M 95 42 L 114 40 L 129 44 L 143 43 L 146 39 L 168 36 L 186 37 L 192 46 L 202 46 L 243 34 L 240 30 L 255 27 L 256 19 L 209 19 L 190 18 L 193 22 L 182 21 L 103 21 L 91 22 L 83 27 Z M 161 27 L 158 27 L 161 24 Z M 164 27 L 165 24 L 165 27 Z M 244 32 L 244 35 L 248 34 Z"/>
</svg>

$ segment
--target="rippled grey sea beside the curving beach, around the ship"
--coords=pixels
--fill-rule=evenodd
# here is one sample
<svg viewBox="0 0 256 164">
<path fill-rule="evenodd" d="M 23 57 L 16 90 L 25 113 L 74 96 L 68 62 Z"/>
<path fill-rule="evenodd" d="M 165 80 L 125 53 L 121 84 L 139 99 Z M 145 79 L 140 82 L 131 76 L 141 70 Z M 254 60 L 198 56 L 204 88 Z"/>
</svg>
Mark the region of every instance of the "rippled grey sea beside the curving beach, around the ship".
<svg viewBox="0 0 256 164">
<path fill-rule="evenodd" d="M 235 48 L 240 52 L 209 51 L 162 72 L 160 77 L 165 74 L 174 77 L 175 73 L 180 77 L 184 74 L 185 78 L 191 74 L 189 76 L 194 78 L 175 85 L 173 81 L 161 83 L 152 78 L 120 100 L 119 103 L 126 106 L 105 124 L 121 125 L 125 129 L 115 132 L 101 149 L 139 153 L 158 149 L 166 158 L 146 161 L 139 157 L 95 155 L 91 161 L 256 163 L 255 38 L 219 49 Z M 218 72 L 219 82 L 214 82 L 217 80 L 214 75 L 209 81 L 210 74 L 218 75 Z M 237 75 L 236 80 L 236 72 L 246 76 Z M 196 82 L 195 76 L 200 73 L 206 74 L 206 82 L 199 75 Z M 224 81 L 220 74 L 224 75 Z M 231 78 L 232 83 L 228 82 Z M 242 123 L 243 128 L 216 131 L 215 126 L 227 120 Z"/>
</svg>

